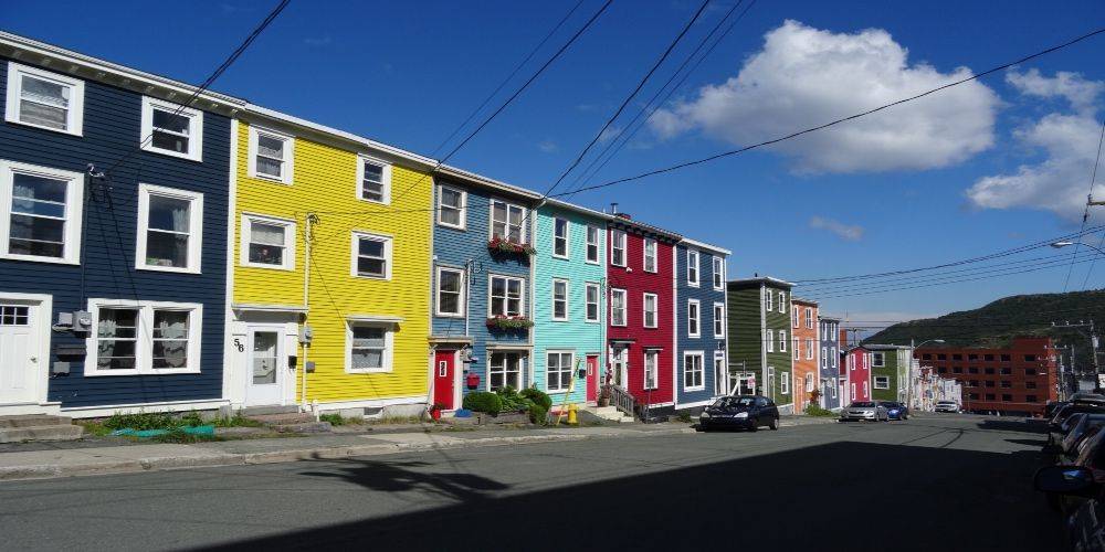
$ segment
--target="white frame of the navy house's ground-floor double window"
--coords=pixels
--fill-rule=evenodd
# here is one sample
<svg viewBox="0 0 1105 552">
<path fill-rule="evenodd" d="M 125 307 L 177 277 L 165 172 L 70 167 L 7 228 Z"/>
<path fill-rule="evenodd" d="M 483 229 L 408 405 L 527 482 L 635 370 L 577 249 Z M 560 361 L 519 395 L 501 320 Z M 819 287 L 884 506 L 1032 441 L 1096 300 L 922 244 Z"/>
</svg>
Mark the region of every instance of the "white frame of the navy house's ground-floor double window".
<svg viewBox="0 0 1105 552">
<path fill-rule="evenodd" d="M 128 370 L 101 370 L 98 362 L 99 309 L 136 309 L 138 310 L 138 328 L 136 329 L 135 368 Z M 185 368 L 154 368 L 154 310 L 187 310 L 188 315 L 188 365 Z M 203 350 L 203 305 L 199 302 L 136 301 L 133 299 L 88 299 L 88 312 L 92 315 L 92 330 L 85 337 L 84 375 L 96 378 L 104 375 L 168 375 L 200 373 L 200 354 Z"/>
</svg>

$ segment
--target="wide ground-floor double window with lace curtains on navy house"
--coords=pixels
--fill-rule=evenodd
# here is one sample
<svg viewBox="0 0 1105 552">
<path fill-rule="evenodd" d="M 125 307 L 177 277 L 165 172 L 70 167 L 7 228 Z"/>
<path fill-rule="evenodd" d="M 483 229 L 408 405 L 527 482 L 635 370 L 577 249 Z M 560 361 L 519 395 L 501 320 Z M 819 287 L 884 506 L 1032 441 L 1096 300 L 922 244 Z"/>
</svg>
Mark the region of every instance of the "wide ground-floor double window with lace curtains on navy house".
<svg viewBox="0 0 1105 552">
<path fill-rule="evenodd" d="M 203 306 L 90 299 L 86 376 L 199 373 Z"/>
</svg>

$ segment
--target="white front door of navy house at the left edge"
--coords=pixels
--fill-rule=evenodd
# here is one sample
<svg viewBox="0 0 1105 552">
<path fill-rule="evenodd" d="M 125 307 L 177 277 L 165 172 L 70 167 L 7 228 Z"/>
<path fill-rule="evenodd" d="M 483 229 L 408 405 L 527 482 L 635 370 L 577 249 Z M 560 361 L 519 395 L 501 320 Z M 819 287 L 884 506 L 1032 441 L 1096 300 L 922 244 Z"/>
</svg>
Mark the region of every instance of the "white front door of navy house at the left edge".
<svg viewBox="0 0 1105 552">
<path fill-rule="evenodd" d="M 0 404 L 31 403 L 38 391 L 34 316 L 38 307 L 0 304 Z"/>
</svg>

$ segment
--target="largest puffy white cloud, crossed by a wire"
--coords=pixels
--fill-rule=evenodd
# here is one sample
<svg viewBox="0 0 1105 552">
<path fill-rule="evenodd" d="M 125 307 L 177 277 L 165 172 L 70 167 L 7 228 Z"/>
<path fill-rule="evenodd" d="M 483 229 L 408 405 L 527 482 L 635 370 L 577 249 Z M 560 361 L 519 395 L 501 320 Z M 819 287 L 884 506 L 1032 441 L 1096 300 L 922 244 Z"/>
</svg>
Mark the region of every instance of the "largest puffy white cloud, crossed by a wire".
<svg viewBox="0 0 1105 552">
<path fill-rule="evenodd" d="M 832 33 L 787 21 L 740 72 L 695 97 L 657 110 L 661 137 L 688 130 L 738 146 L 785 136 L 971 75 L 908 63 L 908 51 L 880 29 Z M 998 96 L 974 81 L 770 148 L 802 171 L 932 169 L 993 145 Z"/>
</svg>

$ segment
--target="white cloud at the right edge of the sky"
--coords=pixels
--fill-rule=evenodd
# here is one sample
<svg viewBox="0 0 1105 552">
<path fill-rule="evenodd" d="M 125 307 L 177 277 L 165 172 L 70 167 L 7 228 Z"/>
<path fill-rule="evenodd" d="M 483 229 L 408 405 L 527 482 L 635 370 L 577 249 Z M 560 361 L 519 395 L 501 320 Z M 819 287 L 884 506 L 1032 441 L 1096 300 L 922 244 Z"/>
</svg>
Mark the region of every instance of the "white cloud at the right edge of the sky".
<svg viewBox="0 0 1105 552">
<path fill-rule="evenodd" d="M 1075 113 L 1050 113 L 1017 129 L 1013 137 L 1028 148 L 1043 151 L 1045 159 L 1021 164 L 1012 173 L 978 179 L 967 190 L 968 200 L 981 209 L 1036 209 L 1078 221 L 1097 162 L 1101 124 L 1095 103 L 1105 92 L 1105 83 L 1064 72 L 1045 77 L 1036 71 L 1010 73 L 1007 81 L 1025 96 L 1062 97 Z M 1094 195 L 1105 195 L 1105 184 L 1094 185 Z"/>
</svg>

